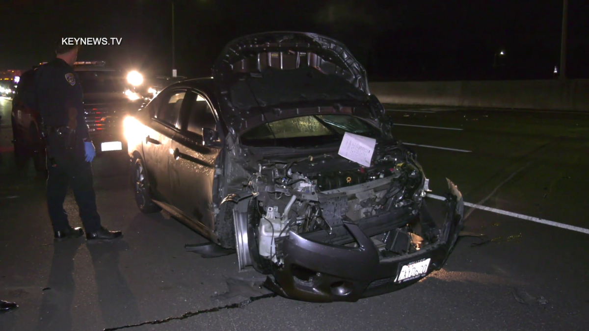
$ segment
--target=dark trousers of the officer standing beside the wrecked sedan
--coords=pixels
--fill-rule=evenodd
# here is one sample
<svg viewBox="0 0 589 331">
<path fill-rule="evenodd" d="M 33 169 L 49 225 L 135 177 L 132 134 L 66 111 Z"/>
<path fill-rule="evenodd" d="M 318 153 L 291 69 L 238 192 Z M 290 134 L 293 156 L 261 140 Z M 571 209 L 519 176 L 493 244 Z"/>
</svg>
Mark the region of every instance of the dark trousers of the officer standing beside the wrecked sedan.
<svg viewBox="0 0 589 331">
<path fill-rule="evenodd" d="M 47 207 L 54 231 L 70 226 L 64 210 L 68 186 L 74 191 L 74 198 L 80 209 L 80 219 L 86 232 L 100 229 L 100 215 L 96 208 L 92 166 L 84 160 L 84 144 L 68 149 L 61 139 L 51 139 L 47 146 Z"/>
</svg>

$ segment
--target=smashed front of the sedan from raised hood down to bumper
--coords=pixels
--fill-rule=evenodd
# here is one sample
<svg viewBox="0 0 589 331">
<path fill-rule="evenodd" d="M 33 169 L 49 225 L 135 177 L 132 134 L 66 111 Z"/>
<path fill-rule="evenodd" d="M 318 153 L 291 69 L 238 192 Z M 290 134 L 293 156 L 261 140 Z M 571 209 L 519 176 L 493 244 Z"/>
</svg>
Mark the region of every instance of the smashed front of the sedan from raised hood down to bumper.
<svg viewBox="0 0 589 331">
<path fill-rule="evenodd" d="M 266 286 L 283 296 L 330 302 L 402 287 L 442 266 L 461 223 L 461 194 L 448 181 L 448 215 L 436 225 L 415 153 L 390 134 L 345 46 L 313 34 L 248 36 L 227 45 L 214 75 L 231 128 L 221 185 L 231 192 L 221 210 L 233 213 L 240 270 L 269 274 Z M 289 146 L 288 138 L 301 137 L 271 125 L 315 133 L 304 119 L 316 118 L 350 132 L 355 124 L 342 116 L 370 127 L 377 140 L 370 167 L 338 155 L 338 144 Z M 274 146 L 248 141 L 260 125 Z"/>
</svg>

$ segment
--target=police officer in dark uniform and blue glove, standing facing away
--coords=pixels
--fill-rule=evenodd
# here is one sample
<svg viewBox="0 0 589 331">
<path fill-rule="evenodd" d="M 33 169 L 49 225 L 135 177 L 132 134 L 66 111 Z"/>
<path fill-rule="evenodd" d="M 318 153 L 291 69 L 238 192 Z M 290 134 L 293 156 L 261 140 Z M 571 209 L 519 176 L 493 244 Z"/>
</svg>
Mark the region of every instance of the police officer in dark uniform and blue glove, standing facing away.
<svg viewBox="0 0 589 331">
<path fill-rule="evenodd" d="M 57 57 L 35 71 L 34 96 L 28 98 L 41 113 L 47 145 L 47 205 L 55 240 L 78 238 L 64 210 L 68 184 L 80 208 L 87 240 L 112 240 L 123 236 L 101 226 L 96 208 L 91 162 L 96 150 L 85 122 L 82 86 L 74 72 L 78 46 L 57 45 Z"/>
</svg>

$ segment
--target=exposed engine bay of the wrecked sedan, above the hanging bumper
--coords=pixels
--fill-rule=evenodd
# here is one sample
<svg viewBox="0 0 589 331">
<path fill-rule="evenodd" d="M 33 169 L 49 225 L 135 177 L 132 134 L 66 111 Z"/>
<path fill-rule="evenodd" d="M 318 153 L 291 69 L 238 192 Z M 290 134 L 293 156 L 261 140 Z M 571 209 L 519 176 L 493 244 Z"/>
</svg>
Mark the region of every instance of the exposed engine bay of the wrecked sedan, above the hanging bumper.
<svg viewBox="0 0 589 331">
<path fill-rule="evenodd" d="M 435 240 L 431 217 L 421 222 L 421 236 L 411 225 L 423 219 L 420 209 L 428 190 L 414 155 L 393 145 L 377 148 L 373 160 L 372 167 L 336 153 L 262 160 L 249 181 L 254 192 L 250 229 L 256 241 L 249 246 L 250 251 L 256 247 L 258 264 L 267 266 L 267 260 L 282 266 L 280 242 L 290 231 L 317 242 L 357 247 L 344 222 L 358 224 L 382 258 L 419 250 L 423 237 Z M 256 269 L 268 273 L 272 267 Z"/>
</svg>

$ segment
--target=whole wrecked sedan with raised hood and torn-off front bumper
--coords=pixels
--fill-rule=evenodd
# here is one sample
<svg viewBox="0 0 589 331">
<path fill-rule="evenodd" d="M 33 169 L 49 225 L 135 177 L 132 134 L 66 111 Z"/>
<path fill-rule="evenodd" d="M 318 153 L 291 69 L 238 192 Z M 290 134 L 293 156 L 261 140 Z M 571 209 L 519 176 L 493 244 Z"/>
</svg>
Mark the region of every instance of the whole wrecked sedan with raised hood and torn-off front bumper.
<svg viewBox="0 0 589 331">
<path fill-rule="evenodd" d="M 445 263 L 464 201 L 423 198 L 416 154 L 391 133 L 366 73 L 339 42 L 269 32 L 230 42 L 213 77 L 160 92 L 125 120 L 141 211 L 164 208 L 292 299 L 354 302 Z"/>
</svg>

